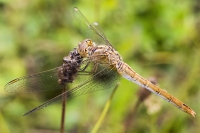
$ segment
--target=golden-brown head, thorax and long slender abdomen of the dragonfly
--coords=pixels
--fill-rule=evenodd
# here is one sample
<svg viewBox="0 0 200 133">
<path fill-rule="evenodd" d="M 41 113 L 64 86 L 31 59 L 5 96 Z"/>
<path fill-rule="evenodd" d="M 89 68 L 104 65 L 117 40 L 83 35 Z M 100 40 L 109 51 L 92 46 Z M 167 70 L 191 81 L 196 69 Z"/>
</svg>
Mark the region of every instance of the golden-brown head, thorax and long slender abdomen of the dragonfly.
<svg viewBox="0 0 200 133">
<path fill-rule="evenodd" d="M 121 56 L 112 46 L 95 46 L 95 44 L 90 39 L 86 39 L 83 42 L 79 43 L 78 49 L 80 49 L 81 51 L 80 55 L 89 58 L 95 63 L 107 64 L 110 67 L 115 68 L 122 77 L 159 95 L 182 111 L 195 117 L 196 113 L 189 106 L 187 106 L 171 94 L 167 93 L 166 91 L 162 90 L 158 86 L 152 84 L 150 81 L 136 73 L 128 64 L 124 63 Z"/>
</svg>

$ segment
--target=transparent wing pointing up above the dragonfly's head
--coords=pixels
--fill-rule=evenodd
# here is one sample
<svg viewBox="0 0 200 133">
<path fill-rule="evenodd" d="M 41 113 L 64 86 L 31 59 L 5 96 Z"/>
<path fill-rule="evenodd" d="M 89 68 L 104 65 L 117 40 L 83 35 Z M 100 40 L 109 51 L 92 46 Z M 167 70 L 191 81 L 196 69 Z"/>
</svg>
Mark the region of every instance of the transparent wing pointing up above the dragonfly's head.
<svg viewBox="0 0 200 133">
<path fill-rule="evenodd" d="M 97 22 L 91 24 L 77 7 L 74 7 L 73 13 L 75 23 L 85 35 L 85 38 L 92 39 L 97 44 L 111 45 Z"/>
</svg>

